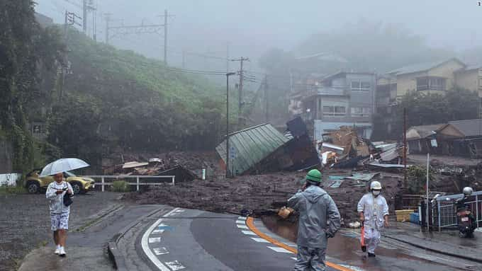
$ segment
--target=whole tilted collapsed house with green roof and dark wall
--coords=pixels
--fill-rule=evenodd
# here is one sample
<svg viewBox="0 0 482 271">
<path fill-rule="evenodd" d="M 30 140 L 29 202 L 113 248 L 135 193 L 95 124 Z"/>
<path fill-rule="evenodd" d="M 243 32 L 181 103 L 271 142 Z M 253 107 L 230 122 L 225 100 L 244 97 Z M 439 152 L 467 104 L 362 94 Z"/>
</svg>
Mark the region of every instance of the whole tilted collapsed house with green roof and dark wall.
<svg viewBox="0 0 482 271">
<path fill-rule="evenodd" d="M 303 120 L 297 117 L 287 126 L 285 134 L 270 124 L 230 134 L 230 175 L 296 171 L 318 166 L 318 155 Z M 226 163 L 226 140 L 216 147 L 216 151 Z"/>
</svg>

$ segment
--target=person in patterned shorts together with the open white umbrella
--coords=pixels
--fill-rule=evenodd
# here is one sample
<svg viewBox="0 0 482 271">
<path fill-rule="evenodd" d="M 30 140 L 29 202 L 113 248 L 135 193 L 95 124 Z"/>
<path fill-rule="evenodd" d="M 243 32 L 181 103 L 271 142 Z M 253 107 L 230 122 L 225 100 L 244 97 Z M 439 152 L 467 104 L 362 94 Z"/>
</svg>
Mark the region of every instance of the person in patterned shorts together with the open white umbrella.
<svg viewBox="0 0 482 271">
<path fill-rule="evenodd" d="M 54 175 L 55 182 L 48 185 L 45 197 L 50 200 L 50 229 L 53 231 L 55 254 L 61 257 L 66 255 L 65 242 L 69 229 L 70 204 L 72 204 L 72 200 L 67 195 L 74 195 L 72 186 L 64 180 L 64 172 L 87 166 L 89 164 L 80 159 L 63 158 L 49 163 L 40 173 L 40 177 Z"/>
</svg>

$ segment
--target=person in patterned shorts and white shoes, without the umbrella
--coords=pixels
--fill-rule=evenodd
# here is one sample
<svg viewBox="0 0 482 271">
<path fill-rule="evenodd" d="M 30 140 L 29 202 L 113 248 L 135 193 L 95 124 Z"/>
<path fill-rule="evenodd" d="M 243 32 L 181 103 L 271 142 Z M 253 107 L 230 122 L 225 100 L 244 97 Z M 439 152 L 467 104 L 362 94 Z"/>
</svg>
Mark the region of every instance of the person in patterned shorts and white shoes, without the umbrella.
<svg viewBox="0 0 482 271">
<path fill-rule="evenodd" d="M 50 200 L 50 229 L 54 233 L 55 254 L 65 257 L 65 241 L 69 229 L 70 206 L 65 206 L 65 193 L 74 195 L 72 186 L 64 180 L 63 173 L 54 175 L 55 182 L 48 185 L 45 196 Z"/>
</svg>

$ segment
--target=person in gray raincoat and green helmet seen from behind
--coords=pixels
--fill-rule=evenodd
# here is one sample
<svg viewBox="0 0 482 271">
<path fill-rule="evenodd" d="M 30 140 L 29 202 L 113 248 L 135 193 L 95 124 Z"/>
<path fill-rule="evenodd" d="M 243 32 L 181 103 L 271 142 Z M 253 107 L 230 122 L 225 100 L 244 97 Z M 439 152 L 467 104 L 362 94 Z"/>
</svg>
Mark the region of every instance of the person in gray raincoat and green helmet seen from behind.
<svg viewBox="0 0 482 271">
<path fill-rule="evenodd" d="M 301 190 L 288 200 L 288 207 L 299 213 L 298 254 L 294 271 L 326 268 L 328 238 L 340 229 L 340 212 L 330 195 L 320 188 L 321 173 L 313 169 L 306 175 Z"/>
</svg>

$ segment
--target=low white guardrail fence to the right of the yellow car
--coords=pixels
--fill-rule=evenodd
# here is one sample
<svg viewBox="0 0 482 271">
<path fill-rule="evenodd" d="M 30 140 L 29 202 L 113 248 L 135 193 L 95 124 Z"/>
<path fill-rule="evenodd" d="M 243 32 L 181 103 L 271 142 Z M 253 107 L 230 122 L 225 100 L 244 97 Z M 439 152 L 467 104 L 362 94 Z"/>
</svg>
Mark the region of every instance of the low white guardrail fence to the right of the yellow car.
<svg viewBox="0 0 482 271">
<path fill-rule="evenodd" d="M 116 180 L 127 180 L 127 179 L 135 179 L 135 183 L 128 182 L 129 185 L 135 185 L 136 190 L 139 191 L 141 185 L 164 185 L 165 183 L 171 183 L 172 185 L 176 185 L 175 180 L 176 176 L 169 175 L 169 176 L 145 176 L 145 175 L 89 175 L 84 176 L 93 178 L 94 180 L 99 180 L 100 182 L 96 182 L 95 185 L 101 185 L 102 192 L 105 191 L 105 187 L 112 185 L 112 183 Z M 157 180 L 156 180 L 157 179 Z M 162 180 L 164 179 L 164 180 Z M 141 180 L 143 180 L 141 182 Z M 165 181 L 167 180 L 167 181 Z"/>
</svg>

